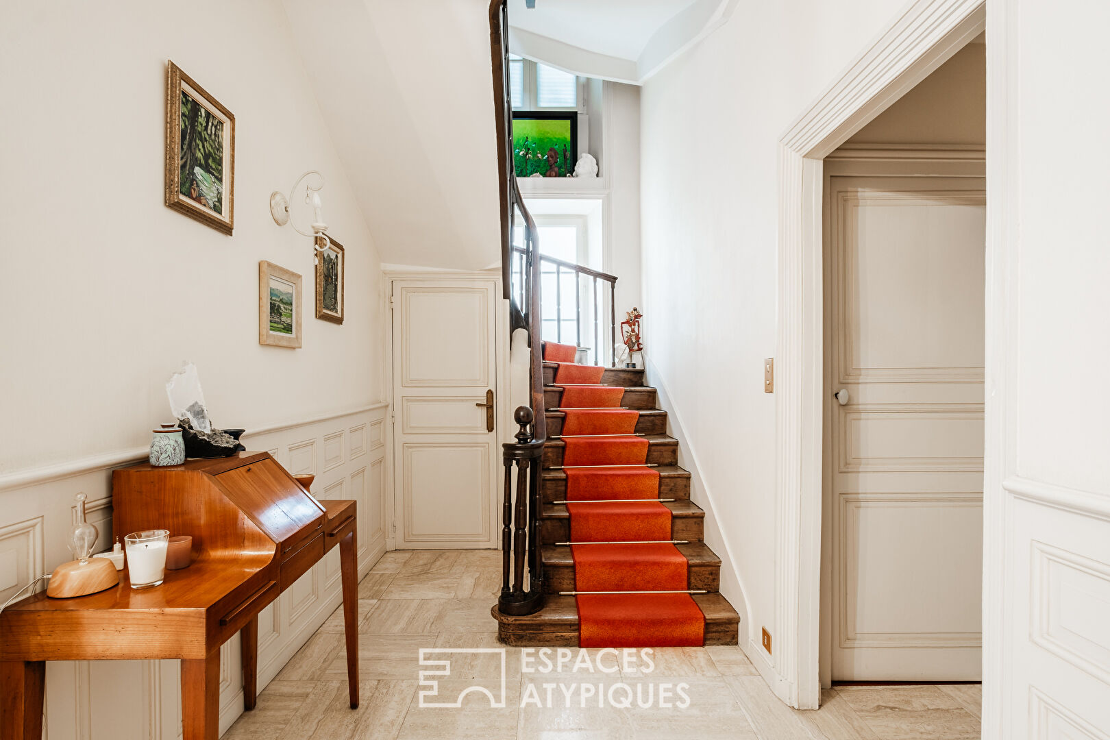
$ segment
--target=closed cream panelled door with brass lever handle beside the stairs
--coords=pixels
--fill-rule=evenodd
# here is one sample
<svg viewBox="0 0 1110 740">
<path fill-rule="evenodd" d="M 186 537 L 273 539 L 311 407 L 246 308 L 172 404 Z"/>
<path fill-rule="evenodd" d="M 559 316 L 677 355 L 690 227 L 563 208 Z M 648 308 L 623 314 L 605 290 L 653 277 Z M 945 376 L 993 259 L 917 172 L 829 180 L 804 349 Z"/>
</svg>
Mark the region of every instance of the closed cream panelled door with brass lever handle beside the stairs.
<svg viewBox="0 0 1110 740">
<path fill-rule="evenodd" d="M 496 547 L 493 280 L 393 281 L 396 547 Z"/>
</svg>

